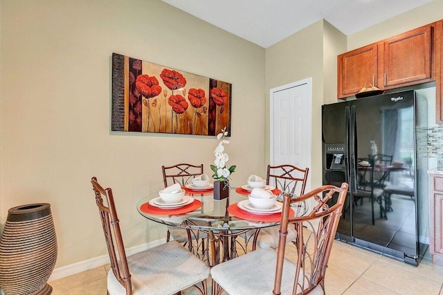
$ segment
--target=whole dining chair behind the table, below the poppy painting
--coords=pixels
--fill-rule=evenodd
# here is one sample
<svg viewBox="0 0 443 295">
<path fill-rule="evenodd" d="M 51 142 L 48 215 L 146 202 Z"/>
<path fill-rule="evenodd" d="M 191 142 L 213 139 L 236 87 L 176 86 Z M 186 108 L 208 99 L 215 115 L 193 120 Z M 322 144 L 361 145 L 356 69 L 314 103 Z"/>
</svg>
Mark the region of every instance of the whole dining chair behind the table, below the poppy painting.
<svg viewBox="0 0 443 295">
<path fill-rule="evenodd" d="M 161 166 L 163 172 L 163 184 L 165 188 L 172 184 L 180 184 L 185 186 L 186 184 L 192 184 L 192 179 L 204 173 L 203 164 L 194 165 L 190 163 L 179 163 L 173 166 Z M 170 238 L 182 243 L 184 246 L 188 245 L 189 251 L 195 253 L 201 260 L 204 260 L 209 265 L 208 257 L 208 233 L 204 231 L 192 231 L 190 229 L 180 229 L 174 226 L 168 226 L 166 242 L 169 242 Z M 196 241 L 196 249 L 192 241 Z"/>
</svg>

